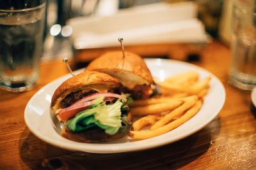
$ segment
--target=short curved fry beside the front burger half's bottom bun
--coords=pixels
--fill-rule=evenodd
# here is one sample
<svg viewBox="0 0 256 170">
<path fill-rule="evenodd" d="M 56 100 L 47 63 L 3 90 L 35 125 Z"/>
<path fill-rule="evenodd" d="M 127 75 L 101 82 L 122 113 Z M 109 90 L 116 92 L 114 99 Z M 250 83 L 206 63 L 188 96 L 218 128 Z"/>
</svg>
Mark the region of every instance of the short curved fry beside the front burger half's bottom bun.
<svg viewBox="0 0 256 170">
<path fill-rule="evenodd" d="M 134 131 L 139 131 L 146 125 L 153 125 L 160 118 L 161 118 L 161 116 L 159 116 L 159 115 L 147 115 L 145 117 L 142 117 L 142 118 L 136 120 L 136 122 L 134 122 L 132 124 L 132 129 Z"/>
</svg>

